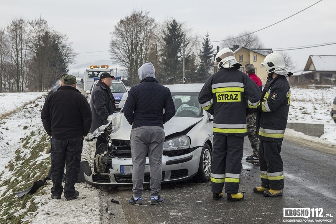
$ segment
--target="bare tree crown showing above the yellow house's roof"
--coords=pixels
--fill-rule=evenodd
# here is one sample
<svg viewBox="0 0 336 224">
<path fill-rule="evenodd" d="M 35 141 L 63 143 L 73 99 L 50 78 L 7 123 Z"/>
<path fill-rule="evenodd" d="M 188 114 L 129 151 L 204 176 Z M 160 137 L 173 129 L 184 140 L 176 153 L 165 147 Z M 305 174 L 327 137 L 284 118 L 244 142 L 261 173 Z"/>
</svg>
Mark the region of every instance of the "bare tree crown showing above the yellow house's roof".
<svg viewBox="0 0 336 224">
<path fill-rule="evenodd" d="M 221 47 L 233 48 L 234 45 L 247 48 L 262 48 L 263 45 L 257 34 L 250 34 L 250 31 L 243 31 L 238 35 L 228 35 L 225 41 L 221 43 Z"/>
</svg>

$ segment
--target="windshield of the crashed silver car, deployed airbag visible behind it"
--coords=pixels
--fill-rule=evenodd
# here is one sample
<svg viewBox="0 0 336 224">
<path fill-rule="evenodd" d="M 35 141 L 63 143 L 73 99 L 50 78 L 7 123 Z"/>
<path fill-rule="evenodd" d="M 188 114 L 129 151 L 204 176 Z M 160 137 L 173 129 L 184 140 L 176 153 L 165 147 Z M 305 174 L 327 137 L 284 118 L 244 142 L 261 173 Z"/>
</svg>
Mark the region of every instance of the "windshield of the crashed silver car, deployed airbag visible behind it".
<svg viewBox="0 0 336 224">
<path fill-rule="evenodd" d="M 199 118 L 202 108 L 198 102 L 198 93 L 171 93 L 175 105 L 176 117 Z"/>
</svg>

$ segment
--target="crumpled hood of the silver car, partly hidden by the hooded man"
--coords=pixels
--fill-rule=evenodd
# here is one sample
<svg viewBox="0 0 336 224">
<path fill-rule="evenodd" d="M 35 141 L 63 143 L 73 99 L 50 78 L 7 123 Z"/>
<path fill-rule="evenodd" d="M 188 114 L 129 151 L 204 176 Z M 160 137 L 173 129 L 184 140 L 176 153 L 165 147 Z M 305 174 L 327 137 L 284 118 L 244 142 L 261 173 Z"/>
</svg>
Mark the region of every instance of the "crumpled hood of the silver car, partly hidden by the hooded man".
<svg viewBox="0 0 336 224">
<path fill-rule="evenodd" d="M 118 140 L 130 140 L 132 126 L 128 123 L 123 113 L 115 113 L 114 115 L 110 137 Z M 201 120 L 202 118 L 173 117 L 163 125 L 165 136 L 184 131 Z"/>
</svg>

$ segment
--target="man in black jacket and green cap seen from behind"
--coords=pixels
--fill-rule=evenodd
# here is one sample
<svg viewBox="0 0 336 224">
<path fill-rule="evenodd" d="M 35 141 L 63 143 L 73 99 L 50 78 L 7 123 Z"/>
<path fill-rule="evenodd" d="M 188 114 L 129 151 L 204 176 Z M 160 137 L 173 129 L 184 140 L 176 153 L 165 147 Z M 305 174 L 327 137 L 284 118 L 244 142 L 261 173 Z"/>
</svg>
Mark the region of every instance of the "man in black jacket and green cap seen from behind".
<svg viewBox="0 0 336 224">
<path fill-rule="evenodd" d="M 83 139 L 91 126 L 91 110 L 85 97 L 76 89 L 76 77 L 66 75 L 61 87 L 45 100 L 41 119 L 52 141 L 51 198 L 72 200 L 79 196 L 75 190 L 80 170 Z M 64 166 L 67 165 L 65 186 L 62 186 Z"/>
</svg>

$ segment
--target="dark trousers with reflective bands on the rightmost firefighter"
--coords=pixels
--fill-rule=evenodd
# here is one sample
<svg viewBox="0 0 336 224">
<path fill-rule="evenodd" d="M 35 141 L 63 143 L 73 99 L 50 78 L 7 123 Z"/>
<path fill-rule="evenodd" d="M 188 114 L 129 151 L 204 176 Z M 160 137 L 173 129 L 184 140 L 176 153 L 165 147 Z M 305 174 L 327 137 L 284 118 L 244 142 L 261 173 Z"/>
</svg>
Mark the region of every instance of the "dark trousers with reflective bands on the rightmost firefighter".
<svg viewBox="0 0 336 224">
<path fill-rule="evenodd" d="M 280 155 L 282 141 L 259 139 L 261 186 L 273 190 L 284 188 L 284 168 Z"/>
</svg>

